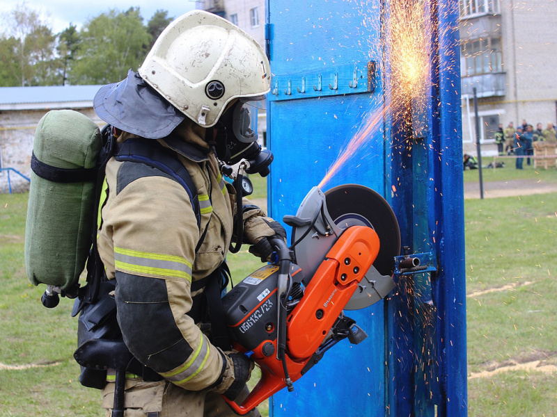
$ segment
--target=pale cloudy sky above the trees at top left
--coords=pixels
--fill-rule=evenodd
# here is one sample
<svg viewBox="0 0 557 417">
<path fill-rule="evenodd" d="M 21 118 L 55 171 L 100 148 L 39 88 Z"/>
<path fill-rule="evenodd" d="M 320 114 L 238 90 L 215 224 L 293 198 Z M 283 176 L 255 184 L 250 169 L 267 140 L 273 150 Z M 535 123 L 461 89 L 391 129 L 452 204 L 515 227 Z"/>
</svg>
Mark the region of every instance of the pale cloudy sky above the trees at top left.
<svg viewBox="0 0 557 417">
<path fill-rule="evenodd" d="M 1 0 L 0 14 L 9 13 L 22 3 L 22 0 Z M 25 4 L 27 8 L 39 13 L 54 33 L 63 31 L 70 23 L 79 29 L 89 18 L 96 17 L 111 8 L 125 11 L 130 7 L 139 6 L 141 17 L 146 24 L 159 9 L 168 10 L 169 17 L 178 17 L 196 6 L 193 0 L 25 0 Z"/>
</svg>

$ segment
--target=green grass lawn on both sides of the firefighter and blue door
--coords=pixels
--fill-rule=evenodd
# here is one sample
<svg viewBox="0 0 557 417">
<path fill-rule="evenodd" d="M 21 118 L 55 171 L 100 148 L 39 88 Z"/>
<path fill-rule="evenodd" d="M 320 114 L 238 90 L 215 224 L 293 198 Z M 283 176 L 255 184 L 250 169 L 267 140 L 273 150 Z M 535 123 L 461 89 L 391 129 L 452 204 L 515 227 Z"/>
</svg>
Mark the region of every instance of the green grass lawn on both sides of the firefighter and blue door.
<svg viewBox="0 0 557 417">
<path fill-rule="evenodd" d="M 511 181 L 505 172 L 515 176 L 505 167 L 488 180 Z M 555 170 L 524 175 L 557 181 Z M 27 197 L 0 195 L 0 416 L 101 416 L 98 391 L 77 380 L 71 300 L 45 309 L 44 286 L 26 279 Z M 557 416 L 557 193 L 464 204 L 469 416 Z M 261 265 L 247 250 L 228 261 L 236 281 Z"/>
</svg>

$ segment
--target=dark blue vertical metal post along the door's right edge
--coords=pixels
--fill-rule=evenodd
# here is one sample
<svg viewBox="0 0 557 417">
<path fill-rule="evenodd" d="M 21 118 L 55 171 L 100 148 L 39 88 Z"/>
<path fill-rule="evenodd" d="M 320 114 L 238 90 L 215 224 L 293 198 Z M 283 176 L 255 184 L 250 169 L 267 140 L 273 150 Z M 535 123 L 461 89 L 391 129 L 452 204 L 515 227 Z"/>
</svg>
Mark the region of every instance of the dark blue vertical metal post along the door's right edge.
<svg viewBox="0 0 557 417">
<path fill-rule="evenodd" d="M 466 267 L 464 263 L 464 183 L 458 5 L 438 1 L 439 7 L 439 174 L 437 253 L 439 276 L 434 295 L 440 300 L 439 361 L 444 416 L 466 416 Z M 441 30 L 443 28 L 444 30 Z M 443 181 L 441 181 L 443 179 Z"/>
</svg>

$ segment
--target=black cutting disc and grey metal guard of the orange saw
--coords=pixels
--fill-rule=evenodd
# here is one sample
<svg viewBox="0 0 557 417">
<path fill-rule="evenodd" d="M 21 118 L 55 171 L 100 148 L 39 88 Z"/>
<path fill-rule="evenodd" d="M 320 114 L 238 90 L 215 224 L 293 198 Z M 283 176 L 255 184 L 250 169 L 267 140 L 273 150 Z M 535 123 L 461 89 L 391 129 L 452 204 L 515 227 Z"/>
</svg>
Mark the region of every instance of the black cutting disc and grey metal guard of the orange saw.
<svg viewBox="0 0 557 417">
<path fill-rule="evenodd" d="M 395 256 L 400 254 L 400 229 L 391 206 L 379 193 L 359 184 L 337 186 L 326 193 L 313 187 L 296 215 L 285 216 L 283 220 L 292 226 L 291 247 L 297 265 L 304 271 L 305 286 L 343 231 L 359 225 L 375 230 L 380 249 L 345 309 L 366 308 L 394 288 L 391 275 Z"/>
</svg>

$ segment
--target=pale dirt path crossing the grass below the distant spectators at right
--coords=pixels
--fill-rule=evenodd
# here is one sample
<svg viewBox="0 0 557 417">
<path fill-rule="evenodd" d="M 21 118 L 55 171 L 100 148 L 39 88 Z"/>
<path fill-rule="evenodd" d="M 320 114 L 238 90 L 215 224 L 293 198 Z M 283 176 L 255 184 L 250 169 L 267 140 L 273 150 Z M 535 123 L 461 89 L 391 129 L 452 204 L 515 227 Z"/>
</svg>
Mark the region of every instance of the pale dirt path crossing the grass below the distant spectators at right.
<svg viewBox="0 0 557 417">
<path fill-rule="evenodd" d="M 537 179 L 515 179 L 512 181 L 489 181 L 483 183 L 484 198 L 545 193 L 557 193 L 557 182 L 538 181 Z M 480 198 L 480 184 L 478 182 L 464 183 L 464 198 Z"/>
</svg>

